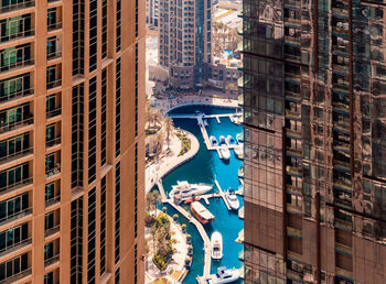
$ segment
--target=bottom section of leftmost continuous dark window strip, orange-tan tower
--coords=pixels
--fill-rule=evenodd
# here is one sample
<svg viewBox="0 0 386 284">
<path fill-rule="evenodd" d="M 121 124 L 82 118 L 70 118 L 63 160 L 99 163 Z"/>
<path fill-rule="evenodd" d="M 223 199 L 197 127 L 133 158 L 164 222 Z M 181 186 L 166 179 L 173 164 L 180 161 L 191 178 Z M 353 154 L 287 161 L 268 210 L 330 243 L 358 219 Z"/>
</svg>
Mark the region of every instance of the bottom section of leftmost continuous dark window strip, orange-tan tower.
<svg viewBox="0 0 386 284">
<path fill-rule="evenodd" d="M 71 203 L 71 283 L 82 284 L 83 197 Z"/>
</svg>

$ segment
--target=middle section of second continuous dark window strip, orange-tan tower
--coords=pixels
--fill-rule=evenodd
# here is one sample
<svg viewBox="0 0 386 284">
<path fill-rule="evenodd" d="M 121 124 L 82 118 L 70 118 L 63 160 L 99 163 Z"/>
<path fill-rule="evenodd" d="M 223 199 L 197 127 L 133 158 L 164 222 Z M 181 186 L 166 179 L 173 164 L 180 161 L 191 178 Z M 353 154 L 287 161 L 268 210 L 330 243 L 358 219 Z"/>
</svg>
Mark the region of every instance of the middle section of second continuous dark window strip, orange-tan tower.
<svg viewBox="0 0 386 284">
<path fill-rule="evenodd" d="M 97 77 L 89 80 L 88 95 L 88 184 L 96 177 L 96 89 Z"/>
</svg>

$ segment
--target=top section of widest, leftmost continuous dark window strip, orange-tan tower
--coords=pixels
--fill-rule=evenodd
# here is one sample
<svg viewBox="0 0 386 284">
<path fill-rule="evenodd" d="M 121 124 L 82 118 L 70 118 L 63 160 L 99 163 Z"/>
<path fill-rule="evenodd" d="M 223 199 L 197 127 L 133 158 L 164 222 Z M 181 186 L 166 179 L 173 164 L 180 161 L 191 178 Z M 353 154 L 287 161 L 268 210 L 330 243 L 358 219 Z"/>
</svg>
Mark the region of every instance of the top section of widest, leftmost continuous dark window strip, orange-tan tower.
<svg viewBox="0 0 386 284">
<path fill-rule="evenodd" d="M 73 0 L 73 75 L 84 74 L 85 1 Z"/>
</svg>

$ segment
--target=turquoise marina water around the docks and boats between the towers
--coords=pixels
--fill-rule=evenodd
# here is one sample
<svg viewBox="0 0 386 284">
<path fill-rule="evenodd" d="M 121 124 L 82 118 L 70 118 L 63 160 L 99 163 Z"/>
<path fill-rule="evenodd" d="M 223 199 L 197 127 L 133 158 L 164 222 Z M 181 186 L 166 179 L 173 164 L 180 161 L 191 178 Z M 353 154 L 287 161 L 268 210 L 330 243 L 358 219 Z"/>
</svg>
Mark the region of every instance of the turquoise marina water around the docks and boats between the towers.
<svg viewBox="0 0 386 284">
<path fill-rule="evenodd" d="M 194 113 L 195 110 L 201 110 L 206 114 L 213 113 L 229 113 L 234 112 L 234 109 L 224 109 L 216 107 L 181 107 L 171 111 L 172 113 Z M 227 136 L 228 134 L 236 138 L 237 133 L 243 131 L 242 125 L 237 125 L 230 122 L 229 118 L 221 118 L 218 124 L 216 119 L 208 119 L 207 132 L 208 135 L 215 135 L 218 140 L 219 135 Z M 193 133 L 200 141 L 200 151 L 197 155 L 190 162 L 181 165 L 174 170 L 168 176 L 163 178 L 163 187 L 167 192 L 171 190 L 171 186 L 176 184 L 176 181 L 187 181 L 189 183 L 210 183 L 213 184 L 213 192 L 217 190 L 214 185 L 214 178 L 217 179 L 223 190 L 228 187 L 237 189 L 239 186 L 238 168 L 243 165 L 243 161 L 235 157 L 234 151 L 230 150 L 230 159 L 228 162 L 219 160 L 216 151 L 207 151 L 204 144 L 197 121 L 193 119 L 174 119 L 174 125 L 181 129 L 187 130 Z M 240 207 L 243 206 L 243 198 L 238 197 Z M 212 261 L 211 272 L 215 273 L 218 266 L 227 267 L 240 267 L 243 262 L 238 260 L 239 252 L 243 250 L 240 243 L 235 242 L 238 237 L 238 232 L 243 229 L 244 222 L 238 219 L 237 211 L 228 211 L 223 199 L 211 198 L 211 205 L 206 206 L 208 210 L 215 216 L 215 220 L 205 226 L 205 230 L 211 238 L 213 231 L 219 231 L 223 234 L 224 256 L 221 261 Z M 204 203 L 203 203 L 204 204 Z M 189 206 L 184 207 L 190 211 Z M 178 214 L 172 207 L 168 207 L 168 214 L 173 216 Z M 195 229 L 194 225 L 180 216 L 180 222 L 186 223 L 187 232 L 192 236 L 193 240 L 193 263 L 190 273 L 186 275 L 184 283 L 196 283 L 195 277 L 203 274 L 203 241 L 200 233 Z M 239 283 L 243 283 L 239 281 Z"/>
</svg>

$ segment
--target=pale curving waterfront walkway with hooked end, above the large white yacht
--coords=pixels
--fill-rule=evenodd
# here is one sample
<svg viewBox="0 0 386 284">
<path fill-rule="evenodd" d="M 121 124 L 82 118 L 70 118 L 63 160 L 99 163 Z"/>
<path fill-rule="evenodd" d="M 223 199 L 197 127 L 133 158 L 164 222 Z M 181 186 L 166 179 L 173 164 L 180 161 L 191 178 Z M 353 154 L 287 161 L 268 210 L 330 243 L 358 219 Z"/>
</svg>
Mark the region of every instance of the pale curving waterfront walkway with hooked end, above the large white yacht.
<svg viewBox="0 0 386 284">
<path fill-rule="evenodd" d="M 175 167 L 191 160 L 199 153 L 199 140 L 192 133 L 187 131 L 183 132 L 191 140 L 191 149 L 185 154 L 179 156 L 182 142 L 173 134 L 170 142 L 170 149 L 172 152 L 169 155 L 160 159 L 158 163 L 153 163 L 146 168 L 146 193 L 149 193 L 159 179 L 163 178 L 163 176 L 169 174 Z"/>
</svg>

